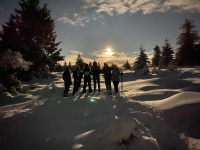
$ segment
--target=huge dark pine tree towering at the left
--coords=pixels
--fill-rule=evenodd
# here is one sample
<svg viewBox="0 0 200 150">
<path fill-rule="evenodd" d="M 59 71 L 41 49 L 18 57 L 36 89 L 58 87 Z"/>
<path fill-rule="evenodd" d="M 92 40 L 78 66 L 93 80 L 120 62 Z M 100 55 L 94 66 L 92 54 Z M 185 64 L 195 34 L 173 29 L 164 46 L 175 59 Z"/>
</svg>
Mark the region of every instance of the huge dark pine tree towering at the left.
<svg viewBox="0 0 200 150">
<path fill-rule="evenodd" d="M 60 42 L 55 42 L 54 20 L 45 4 L 39 0 L 20 0 L 20 9 L 11 14 L 3 32 L 0 34 L 2 51 L 12 48 L 23 54 L 25 60 L 33 63 L 32 71 L 44 70 L 46 65 L 53 68 L 57 61 L 63 60 L 58 50 Z M 10 39 L 10 40 L 9 40 Z"/>
</svg>

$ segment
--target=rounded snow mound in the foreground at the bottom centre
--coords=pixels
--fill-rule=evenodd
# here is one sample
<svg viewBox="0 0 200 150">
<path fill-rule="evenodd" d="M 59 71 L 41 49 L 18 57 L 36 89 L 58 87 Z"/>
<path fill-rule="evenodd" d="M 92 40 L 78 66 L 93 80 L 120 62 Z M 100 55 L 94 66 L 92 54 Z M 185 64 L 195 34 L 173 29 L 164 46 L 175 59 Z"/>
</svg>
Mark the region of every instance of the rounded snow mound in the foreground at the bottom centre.
<svg viewBox="0 0 200 150">
<path fill-rule="evenodd" d="M 131 119 L 118 118 L 107 126 L 78 135 L 75 139 L 84 140 L 84 150 L 112 150 L 122 142 L 122 139 L 130 138 L 135 125 L 136 123 Z"/>
</svg>

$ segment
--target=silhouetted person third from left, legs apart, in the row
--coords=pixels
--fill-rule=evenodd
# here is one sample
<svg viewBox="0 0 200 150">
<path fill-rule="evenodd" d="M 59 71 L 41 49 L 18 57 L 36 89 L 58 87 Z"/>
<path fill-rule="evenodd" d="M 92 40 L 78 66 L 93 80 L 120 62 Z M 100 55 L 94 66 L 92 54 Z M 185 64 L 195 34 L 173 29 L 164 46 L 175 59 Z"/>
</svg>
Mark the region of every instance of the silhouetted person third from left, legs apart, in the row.
<svg viewBox="0 0 200 150">
<path fill-rule="evenodd" d="M 89 86 L 89 92 L 91 93 L 92 92 L 92 88 L 91 88 L 91 76 L 90 76 L 91 70 L 88 67 L 88 64 L 85 65 L 85 68 L 83 69 L 83 74 L 84 74 L 83 93 L 86 92 L 87 83 L 88 83 L 88 86 Z"/>
</svg>

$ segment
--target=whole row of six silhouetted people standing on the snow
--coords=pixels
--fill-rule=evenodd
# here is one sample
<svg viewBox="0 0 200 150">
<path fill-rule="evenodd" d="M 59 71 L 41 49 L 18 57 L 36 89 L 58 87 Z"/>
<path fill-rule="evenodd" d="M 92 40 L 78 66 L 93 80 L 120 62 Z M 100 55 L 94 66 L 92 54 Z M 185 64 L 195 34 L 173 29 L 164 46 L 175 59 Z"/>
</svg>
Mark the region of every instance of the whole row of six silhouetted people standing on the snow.
<svg viewBox="0 0 200 150">
<path fill-rule="evenodd" d="M 104 74 L 105 78 L 105 85 L 107 92 L 111 94 L 112 88 L 111 88 L 111 81 L 113 81 L 115 93 L 119 91 L 118 85 L 119 85 L 119 76 L 122 76 L 122 71 L 120 72 L 116 65 L 113 65 L 112 67 L 109 67 L 107 63 L 104 63 L 104 67 L 101 70 L 100 67 L 97 66 L 97 62 L 93 62 L 93 67 L 90 68 L 88 64 L 85 65 L 83 68 L 83 71 L 81 71 L 79 66 L 76 66 L 74 72 L 73 72 L 73 78 L 74 78 L 74 88 L 73 88 L 73 95 L 78 91 L 81 85 L 81 79 L 84 76 L 84 86 L 83 86 L 83 93 L 86 93 L 86 86 L 89 87 L 89 92 L 92 92 L 91 88 L 91 75 L 93 76 L 93 82 L 94 82 L 94 92 L 96 92 L 96 84 L 98 84 L 98 91 L 100 90 L 100 74 Z M 70 85 L 72 84 L 71 75 L 70 75 L 70 69 L 69 67 L 66 67 L 65 72 L 63 73 L 63 80 L 65 81 L 65 90 L 63 93 L 64 97 L 68 96 L 68 91 L 70 88 Z"/>
</svg>

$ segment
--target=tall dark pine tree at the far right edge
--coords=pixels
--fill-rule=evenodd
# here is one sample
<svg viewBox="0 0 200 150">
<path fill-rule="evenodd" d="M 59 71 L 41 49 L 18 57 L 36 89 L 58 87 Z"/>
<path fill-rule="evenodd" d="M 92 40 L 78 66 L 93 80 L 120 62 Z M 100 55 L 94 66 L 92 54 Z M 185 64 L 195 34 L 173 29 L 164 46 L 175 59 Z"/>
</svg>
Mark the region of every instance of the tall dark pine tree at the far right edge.
<svg viewBox="0 0 200 150">
<path fill-rule="evenodd" d="M 187 19 L 180 26 L 183 31 L 177 38 L 177 45 L 179 45 L 175 60 L 177 65 L 191 66 L 199 63 L 200 58 L 197 57 L 199 52 L 196 51 L 194 44 L 199 41 L 200 37 L 195 27 L 194 21 Z"/>
</svg>

